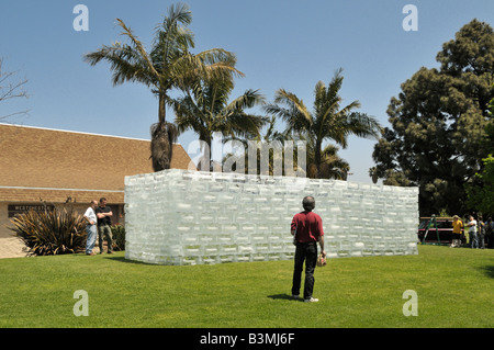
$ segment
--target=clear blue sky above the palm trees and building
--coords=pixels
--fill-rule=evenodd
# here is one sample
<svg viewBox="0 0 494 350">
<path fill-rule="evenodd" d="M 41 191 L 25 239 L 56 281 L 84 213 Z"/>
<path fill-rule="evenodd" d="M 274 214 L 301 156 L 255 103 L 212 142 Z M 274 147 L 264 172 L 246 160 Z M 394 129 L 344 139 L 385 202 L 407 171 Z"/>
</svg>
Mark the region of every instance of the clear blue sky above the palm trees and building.
<svg viewBox="0 0 494 350">
<path fill-rule="evenodd" d="M 91 67 L 82 55 L 103 44 L 123 41 L 122 19 L 149 47 L 154 29 L 176 1 L 3 0 L 0 9 L 0 57 L 3 71 L 29 80 L 29 99 L 0 104 L 0 116 L 30 110 L 8 122 L 105 135 L 149 139 L 157 121 L 157 100 L 141 84 L 113 87 L 109 66 Z M 386 109 L 400 86 L 420 67 L 437 67 L 445 42 L 473 19 L 494 26 L 492 0 L 189 0 L 195 50 L 222 47 L 237 55 L 232 98 L 260 89 L 268 101 L 287 89 L 312 108 L 317 81 L 329 82 L 344 68 L 344 103 L 358 100 L 360 112 L 389 126 Z M 77 4 L 89 10 L 89 31 L 75 31 Z M 405 31 L 402 10 L 418 10 L 418 31 Z M 172 112 L 167 117 L 172 120 Z M 193 133 L 179 142 L 186 150 Z M 370 182 L 375 140 L 350 137 L 339 155 L 353 173 Z"/>
</svg>

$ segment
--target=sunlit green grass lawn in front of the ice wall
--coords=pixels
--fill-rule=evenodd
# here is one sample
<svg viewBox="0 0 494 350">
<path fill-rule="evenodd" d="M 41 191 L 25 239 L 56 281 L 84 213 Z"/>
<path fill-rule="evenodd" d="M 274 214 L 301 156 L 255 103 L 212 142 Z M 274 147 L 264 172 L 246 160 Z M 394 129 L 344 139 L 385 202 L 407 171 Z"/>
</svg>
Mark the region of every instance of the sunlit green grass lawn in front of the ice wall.
<svg viewBox="0 0 494 350">
<path fill-rule="evenodd" d="M 290 298 L 292 272 L 292 261 L 170 267 L 124 252 L 1 259 L 0 327 L 494 327 L 491 249 L 332 259 L 316 269 L 311 304 Z M 78 290 L 88 317 L 74 315 Z M 407 290 L 418 316 L 403 314 Z"/>
</svg>

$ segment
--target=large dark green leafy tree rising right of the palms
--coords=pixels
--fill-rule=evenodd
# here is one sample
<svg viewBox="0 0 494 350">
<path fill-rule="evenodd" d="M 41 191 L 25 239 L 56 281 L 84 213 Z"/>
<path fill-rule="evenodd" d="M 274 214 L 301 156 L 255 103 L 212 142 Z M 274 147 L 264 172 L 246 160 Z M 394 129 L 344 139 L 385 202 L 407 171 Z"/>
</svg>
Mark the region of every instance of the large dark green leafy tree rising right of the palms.
<svg viewBox="0 0 494 350">
<path fill-rule="evenodd" d="M 438 53 L 439 68 L 420 68 L 388 109 L 374 147 L 386 184 L 418 185 L 423 215 L 463 213 L 463 185 L 482 168 L 487 104 L 494 97 L 494 33 L 473 20 Z"/>
</svg>

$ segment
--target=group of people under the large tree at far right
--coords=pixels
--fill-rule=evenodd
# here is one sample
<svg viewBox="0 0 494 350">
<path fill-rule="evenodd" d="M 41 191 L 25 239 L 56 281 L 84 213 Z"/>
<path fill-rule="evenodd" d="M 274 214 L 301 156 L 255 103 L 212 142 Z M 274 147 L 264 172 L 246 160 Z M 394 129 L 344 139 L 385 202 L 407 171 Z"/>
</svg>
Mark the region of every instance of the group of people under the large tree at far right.
<svg viewBox="0 0 494 350">
<path fill-rule="evenodd" d="M 489 217 L 486 222 L 483 221 L 482 216 L 470 215 L 467 224 L 463 224 L 458 215 L 453 216 L 453 237 L 451 242 L 451 248 L 461 247 L 462 230 L 467 230 L 469 234 L 469 247 L 476 249 L 484 249 L 487 246 L 493 246 L 494 244 L 494 222 L 492 217 Z"/>
</svg>

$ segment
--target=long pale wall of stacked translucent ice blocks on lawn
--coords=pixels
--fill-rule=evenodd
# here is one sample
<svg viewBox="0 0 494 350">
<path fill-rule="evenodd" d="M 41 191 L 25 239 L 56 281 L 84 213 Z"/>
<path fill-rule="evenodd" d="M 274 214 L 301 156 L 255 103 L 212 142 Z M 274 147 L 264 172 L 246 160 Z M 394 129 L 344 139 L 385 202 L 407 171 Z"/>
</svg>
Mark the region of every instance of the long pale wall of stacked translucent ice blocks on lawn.
<svg viewBox="0 0 494 350">
<path fill-rule="evenodd" d="M 170 169 L 125 178 L 125 258 L 160 264 L 292 259 L 313 195 L 329 258 L 417 253 L 418 189 Z"/>
</svg>

